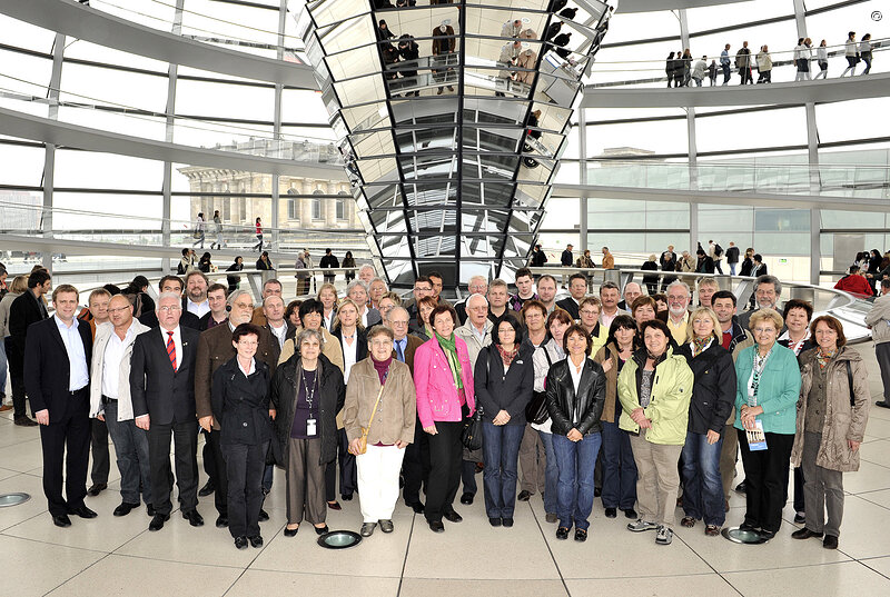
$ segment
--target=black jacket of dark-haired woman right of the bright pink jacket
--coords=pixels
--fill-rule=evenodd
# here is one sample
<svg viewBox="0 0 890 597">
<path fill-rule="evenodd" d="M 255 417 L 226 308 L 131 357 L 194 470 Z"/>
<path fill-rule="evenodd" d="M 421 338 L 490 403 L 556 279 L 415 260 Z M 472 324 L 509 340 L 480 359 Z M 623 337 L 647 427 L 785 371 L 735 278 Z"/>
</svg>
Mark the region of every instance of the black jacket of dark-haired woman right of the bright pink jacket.
<svg viewBox="0 0 890 597">
<path fill-rule="evenodd" d="M 479 351 L 473 388 L 486 421 L 492 422 L 495 415 L 506 410 L 510 415 L 507 425 L 525 425 L 525 407 L 532 399 L 535 386 L 535 366 L 532 362 L 534 351 L 535 348 L 528 340 L 521 344 L 506 375 L 504 359 L 495 345 L 486 346 Z"/>
</svg>

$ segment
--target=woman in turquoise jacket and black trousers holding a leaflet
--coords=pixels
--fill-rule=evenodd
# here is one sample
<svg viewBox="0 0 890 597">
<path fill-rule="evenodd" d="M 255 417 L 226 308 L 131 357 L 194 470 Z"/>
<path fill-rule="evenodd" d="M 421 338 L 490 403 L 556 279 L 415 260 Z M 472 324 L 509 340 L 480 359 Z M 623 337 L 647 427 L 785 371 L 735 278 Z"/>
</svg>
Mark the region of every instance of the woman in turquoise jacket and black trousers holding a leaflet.
<svg viewBox="0 0 890 597">
<path fill-rule="evenodd" d="M 800 368 L 792 350 L 775 340 L 782 316 L 773 309 L 751 315 L 754 346 L 735 359 L 735 428 L 745 474 L 743 530 L 771 539 L 782 525 L 791 447 L 794 444 Z M 759 431 L 763 431 L 756 437 Z M 765 439 L 765 446 L 756 444 Z M 751 441 L 752 444 L 749 444 Z"/>
</svg>

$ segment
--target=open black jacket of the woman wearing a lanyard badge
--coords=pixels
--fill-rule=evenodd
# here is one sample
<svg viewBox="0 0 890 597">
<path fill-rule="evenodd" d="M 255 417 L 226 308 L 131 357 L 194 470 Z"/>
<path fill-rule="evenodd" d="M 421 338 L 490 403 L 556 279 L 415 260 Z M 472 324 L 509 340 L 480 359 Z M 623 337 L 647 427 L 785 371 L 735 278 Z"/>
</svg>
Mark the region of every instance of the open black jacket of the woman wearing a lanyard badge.
<svg viewBox="0 0 890 597">
<path fill-rule="evenodd" d="M 275 369 L 271 378 L 270 402 L 278 412 L 275 417 L 275 437 L 281 448 L 284 466 L 287 468 L 287 442 L 297 410 L 297 384 L 300 375 L 300 357 L 295 354 Z M 322 372 L 320 402 L 318 410 L 318 435 L 322 439 L 322 457 L 319 465 L 325 465 L 337 457 L 337 412 L 346 401 L 346 386 L 343 374 L 324 355 L 318 356 L 318 368 Z"/>
</svg>

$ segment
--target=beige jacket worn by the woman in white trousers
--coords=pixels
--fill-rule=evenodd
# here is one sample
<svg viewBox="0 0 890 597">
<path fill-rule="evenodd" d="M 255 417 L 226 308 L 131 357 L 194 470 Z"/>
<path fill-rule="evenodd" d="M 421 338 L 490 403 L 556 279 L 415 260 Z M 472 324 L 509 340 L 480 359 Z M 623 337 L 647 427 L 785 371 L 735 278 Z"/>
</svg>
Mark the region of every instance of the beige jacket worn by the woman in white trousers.
<svg viewBox="0 0 890 597">
<path fill-rule="evenodd" d="M 379 391 L 380 378 L 372 358 L 356 362 L 349 371 L 346 402 L 343 405 L 343 424 L 349 441 L 362 437 L 362 429 L 368 426 Z M 417 395 L 411 371 L 407 365 L 393 359 L 377 405 L 377 414 L 368 430 L 368 446 L 390 446 L 396 441 L 411 444 L 414 440 L 416 420 Z"/>
</svg>

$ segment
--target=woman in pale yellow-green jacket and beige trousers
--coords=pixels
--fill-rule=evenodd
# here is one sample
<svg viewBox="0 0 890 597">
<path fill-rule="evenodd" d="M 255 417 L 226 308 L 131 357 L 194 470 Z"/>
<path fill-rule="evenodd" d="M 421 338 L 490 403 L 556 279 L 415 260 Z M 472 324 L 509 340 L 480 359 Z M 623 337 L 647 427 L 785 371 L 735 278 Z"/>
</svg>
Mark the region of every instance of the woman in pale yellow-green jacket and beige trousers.
<svg viewBox="0 0 890 597">
<path fill-rule="evenodd" d="M 631 434 L 637 470 L 640 518 L 627 530 L 657 529 L 655 543 L 670 545 L 693 375 L 686 359 L 673 355 L 668 324 L 653 319 L 641 332 L 645 347 L 624 364 L 617 387 L 623 410 L 619 427 Z"/>
</svg>

